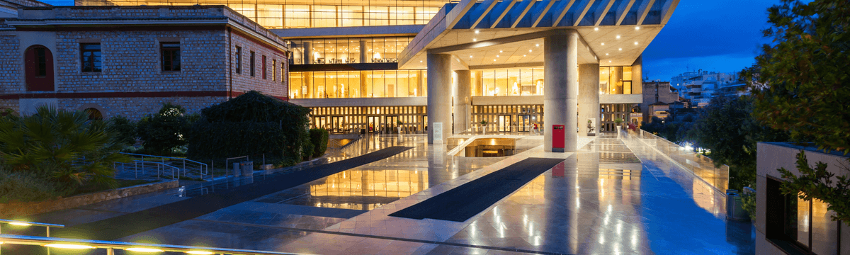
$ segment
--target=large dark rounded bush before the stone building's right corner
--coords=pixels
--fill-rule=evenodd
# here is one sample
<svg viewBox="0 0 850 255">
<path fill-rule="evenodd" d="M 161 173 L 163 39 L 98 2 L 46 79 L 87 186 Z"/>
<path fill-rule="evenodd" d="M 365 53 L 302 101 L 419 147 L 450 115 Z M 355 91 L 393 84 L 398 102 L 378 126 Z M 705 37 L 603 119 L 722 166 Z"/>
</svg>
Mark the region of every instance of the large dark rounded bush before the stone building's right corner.
<svg viewBox="0 0 850 255">
<path fill-rule="evenodd" d="M 309 109 L 274 99 L 256 91 L 201 111 L 191 127 L 187 156 L 208 161 L 231 156 L 265 154 L 273 164 L 293 165 L 311 150 Z"/>
</svg>

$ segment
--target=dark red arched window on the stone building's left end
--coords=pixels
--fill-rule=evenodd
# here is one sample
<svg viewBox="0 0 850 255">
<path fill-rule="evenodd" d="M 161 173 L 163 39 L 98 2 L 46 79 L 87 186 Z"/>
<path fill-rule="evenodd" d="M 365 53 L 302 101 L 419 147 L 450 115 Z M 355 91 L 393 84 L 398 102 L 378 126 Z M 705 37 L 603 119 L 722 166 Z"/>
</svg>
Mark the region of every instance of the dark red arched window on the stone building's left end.
<svg viewBox="0 0 850 255">
<path fill-rule="evenodd" d="M 33 45 L 24 53 L 27 91 L 54 90 L 53 53 L 42 45 Z"/>
</svg>

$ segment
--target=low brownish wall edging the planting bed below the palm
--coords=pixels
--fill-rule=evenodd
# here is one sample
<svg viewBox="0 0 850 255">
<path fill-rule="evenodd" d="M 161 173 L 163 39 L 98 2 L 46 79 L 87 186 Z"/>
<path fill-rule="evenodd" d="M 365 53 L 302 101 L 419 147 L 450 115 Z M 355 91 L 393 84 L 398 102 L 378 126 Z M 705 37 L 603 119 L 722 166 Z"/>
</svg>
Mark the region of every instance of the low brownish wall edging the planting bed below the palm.
<svg viewBox="0 0 850 255">
<path fill-rule="evenodd" d="M 141 184 L 116 190 L 105 190 L 97 193 L 74 195 L 51 201 L 12 202 L 0 204 L 0 218 L 16 218 L 31 214 L 53 212 L 74 207 L 82 207 L 100 201 L 139 195 L 157 190 L 177 188 L 178 181 L 164 181 L 153 184 Z"/>
</svg>

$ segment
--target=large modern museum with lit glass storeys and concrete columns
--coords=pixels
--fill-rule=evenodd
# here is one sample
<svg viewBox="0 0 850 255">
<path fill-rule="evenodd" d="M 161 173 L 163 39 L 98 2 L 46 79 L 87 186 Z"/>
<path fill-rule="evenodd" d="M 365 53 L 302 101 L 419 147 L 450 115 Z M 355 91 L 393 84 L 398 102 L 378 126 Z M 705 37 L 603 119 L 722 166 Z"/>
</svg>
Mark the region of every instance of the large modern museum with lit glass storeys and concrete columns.
<svg viewBox="0 0 850 255">
<path fill-rule="evenodd" d="M 566 150 L 575 150 L 570 144 L 575 147 L 578 134 L 586 135 L 589 129 L 614 132 L 616 121 L 628 122 L 631 113 L 639 111 L 637 106 L 643 103 L 641 54 L 670 19 L 677 3 L 78 0 L 77 7 L 68 9 L 111 9 L 104 12 L 115 13 L 134 8 L 225 5 L 223 13 L 235 12 L 247 18 L 242 23 L 229 22 L 253 25 L 245 26 L 249 30 L 271 31 L 273 34 L 259 34 L 274 46 L 269 48 L 280 52 L 263 54 L 263 59 L 271 60 L 262 60 L 259 55 L 246 60 L 246 49 L 240 54 L 235 47 L 222 44 L 229 42 L 229 36 L 221 30 L 222 45 L 212 48 L 226 50 L 219 50 L 217 58 L 221 60 L 216 66 L 231 64 L 229 70 L 202 68 L 212 71 L 204 78 L 224 81 L 224 89 L 210 90 L 223 93 L 218 98 L 226 99 L 255 89 L 262 82 L 272 82 L 266 79 L 260 84 L 229 88 L 231 77 L 245 77 L 230 75 L 241 66 L 233 62 L 245 65 L 250 61 L 264 66 L 263 70 L 280 69 L 280 80 L 276 81 L 280 83 L 269 85 L 269 90 L 257 90 L 311 108 L 312 125 L 326 127 L 332 133 L 401 130 L 428 133 L 429 143 L 440 143 L 451 133 L 482 128 L 532 133 L 537 127 L 545 134 L 545 149 L 551 150 L 551 132 L 545 131 L 552 125 L 564 125 L 578 128 L 577 133 L 567 132 L 564 137 Z M 26 12 L 29 8 L 24 9 Z M 7 24 L 20 29 L 22 23 L 32 22 L 25 20 L 21 17 Z M 191 19 L 181 22 L 204 24 Z M 286 44 L 275 44 L 284 42 L 280 38 Z M 263 40 L 255 37 L 255 41 Z M 183 59 L 183 63 L 198 62 Z M 246 70 L 246 66 L 241 68 Z M 184 101 L 195 99 L 201 98 Z M 439 131 L 428 128 L 434 127 L 433 123 L 439 123 Z M 433 140 L 434 132 L 438 141 Z"/>
</svg>

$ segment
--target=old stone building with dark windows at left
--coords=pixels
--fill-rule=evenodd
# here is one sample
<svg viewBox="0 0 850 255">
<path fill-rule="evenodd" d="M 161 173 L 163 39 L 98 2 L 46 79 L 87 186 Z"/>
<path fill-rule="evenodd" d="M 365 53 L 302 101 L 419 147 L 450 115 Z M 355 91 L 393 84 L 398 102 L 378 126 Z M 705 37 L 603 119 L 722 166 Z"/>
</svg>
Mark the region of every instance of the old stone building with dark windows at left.
<svg viewBox="0 0 850 255">
<path fill-rule="evenodd" d="M 286 42 L 226 6 L 23 7 L 0 26 L 0 108 L 139 119 L 249 90 L 287 99 Z"/>
</svg>

